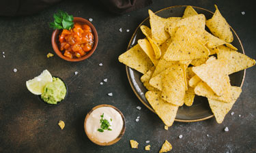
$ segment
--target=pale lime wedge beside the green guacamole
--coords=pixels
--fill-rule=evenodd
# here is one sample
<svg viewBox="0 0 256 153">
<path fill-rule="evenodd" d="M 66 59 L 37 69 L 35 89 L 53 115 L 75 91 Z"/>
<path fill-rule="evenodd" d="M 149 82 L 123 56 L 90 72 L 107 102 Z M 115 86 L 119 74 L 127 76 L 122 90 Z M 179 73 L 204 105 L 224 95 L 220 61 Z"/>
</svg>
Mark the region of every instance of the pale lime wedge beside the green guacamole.
<svg viewBox="0 0 256 153">
<path fill-rule="evenodd" d="M 41 95 L 44 92 L 44 86 L 48 82 L 53 82 L 53 76 L 46 69 L 39 76 L 26 82 L 27 89 L 34 95 Z"/>
</svg>

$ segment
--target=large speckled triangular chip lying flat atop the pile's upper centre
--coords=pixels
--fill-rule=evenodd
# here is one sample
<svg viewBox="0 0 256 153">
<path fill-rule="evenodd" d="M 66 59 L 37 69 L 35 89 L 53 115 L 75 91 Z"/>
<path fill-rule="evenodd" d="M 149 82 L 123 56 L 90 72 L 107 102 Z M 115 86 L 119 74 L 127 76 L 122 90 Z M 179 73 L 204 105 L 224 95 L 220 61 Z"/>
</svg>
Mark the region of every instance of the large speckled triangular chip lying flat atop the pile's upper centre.
<svg viewBox="0 0 256 153">
<path fill-rule="evenodd" d="M 188 35 L 189 30 L 186 27 L 177 29 L 173 42 L 164 55 L 166 61 L 182 61 L 196 58 L 206 58 L 210 54 L 208 48 Z"/>
</svg>

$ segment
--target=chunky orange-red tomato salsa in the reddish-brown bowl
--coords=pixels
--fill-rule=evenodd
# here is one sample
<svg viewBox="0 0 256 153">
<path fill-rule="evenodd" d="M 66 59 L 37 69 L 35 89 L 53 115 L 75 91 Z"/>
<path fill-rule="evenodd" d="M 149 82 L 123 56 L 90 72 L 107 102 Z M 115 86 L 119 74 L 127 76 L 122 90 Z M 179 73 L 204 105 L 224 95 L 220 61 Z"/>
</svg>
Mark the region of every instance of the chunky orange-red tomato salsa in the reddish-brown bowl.
<svg viewBox="0 0 256 153">
<path fill-rule="evenodd" d="M 94 45 L 94 35 L 87 24 L 74 23 L 70 30 L 63 29 L 59 35 L 59 48 L 68 58 L 81 58 Z"/>
</svg>

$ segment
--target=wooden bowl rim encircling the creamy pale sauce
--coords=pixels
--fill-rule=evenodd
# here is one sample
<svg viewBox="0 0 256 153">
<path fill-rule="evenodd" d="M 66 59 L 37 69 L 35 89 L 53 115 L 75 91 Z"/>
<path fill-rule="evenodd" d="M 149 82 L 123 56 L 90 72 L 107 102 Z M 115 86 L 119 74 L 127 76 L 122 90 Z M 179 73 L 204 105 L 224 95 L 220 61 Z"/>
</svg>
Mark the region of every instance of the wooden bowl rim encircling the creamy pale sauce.
<svg viewBox="0 0 256 153">
<path fill-rule="evenodd" d="M 93 112 L 95 109 L 99 108 L 99 107 L 112 107 L 113 109 L 115 109 L 117 112 L 119 112 L 119 114 L 122 116 L 122 119 L 123 119 L 123 128 L 120 132 L 120 134 L 118 135 L 117 138 L 115 138 L 113 141 L 109 141 L 109 142 L 99 142 L 97 141 L 96 139 L 93 139 L 92 137 L 90 137 L 89 133 L 87 132 L 87 129 L 86 129 L 86 122 L 87 122 L 87 119 L 89 118 L 89 115 L 91 114 L 91 112 Z M 102 105 L 97 105 L 96 107 L 93 107 L 91 109 L 91 111 L 87 114 L 87 116 L 85 117 L 85 122 L 84 122 L 84 129 L 85 129 L 85 133 L 87 135 L 87 137 L 93 142 L 93 143 L 96 143 L 97 145 L 99 146 L 111 146 L 113 145 L 114 143 L 117 143 L 117 141 L 119 141 L 119 139 L 121 139 L 124 135 L 124 132 L 126 131 L 126 119 L 124 118 L 124 115 L 122 114 L 122 112 L 117 109 L 117 107 L 113 106 L 113 105 L 106 105 L 106 104 L 102 104 Z"/>
</svg>

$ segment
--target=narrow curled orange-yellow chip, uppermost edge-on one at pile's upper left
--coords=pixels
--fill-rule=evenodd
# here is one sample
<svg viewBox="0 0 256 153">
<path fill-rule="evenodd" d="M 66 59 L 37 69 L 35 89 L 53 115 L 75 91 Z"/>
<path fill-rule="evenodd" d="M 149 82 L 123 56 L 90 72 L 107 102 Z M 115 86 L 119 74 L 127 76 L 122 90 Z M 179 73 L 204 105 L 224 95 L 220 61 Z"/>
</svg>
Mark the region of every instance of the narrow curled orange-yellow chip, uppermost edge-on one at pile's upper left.
<svg viewBox="0 0 256 153">
<path fill-rule="evenodd" d="M 148 41 L 150 41 L 150 44 L 154 50 L 154 53 L 156 55 L 156 59 L 160 58 L 161 56 L 161 50 L 158 47 L 158 45 L 156 44 L 156 42 L 154 42 L 152 40 L 152 33 L 151 33 L 151 29 L 145 25 L 141 26 L 141 31 L 142 33 L 147 37 Z"/>
</svg>

